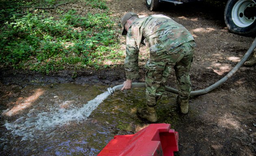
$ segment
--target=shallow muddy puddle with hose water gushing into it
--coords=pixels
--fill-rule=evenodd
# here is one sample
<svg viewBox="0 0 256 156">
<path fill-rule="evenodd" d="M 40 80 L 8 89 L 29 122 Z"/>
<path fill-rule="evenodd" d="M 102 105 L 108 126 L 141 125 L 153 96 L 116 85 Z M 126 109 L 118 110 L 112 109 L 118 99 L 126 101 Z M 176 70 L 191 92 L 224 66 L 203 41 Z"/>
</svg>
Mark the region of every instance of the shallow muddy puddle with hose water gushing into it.
<svg viewBox="0 0 256 156">
<path fill-rule="evenodd" d="M 106 89 L 74 84 L 20 88 L 17 96 L 2 101 L 7 108 L 0 119 L 0 155 L 94 156 L 115 135 L 147 126 L 136 116 L 145 102 L 144 89 L 112 96 Z M 165 95 L 161 110 L 173 99 Z"/>
</svg>

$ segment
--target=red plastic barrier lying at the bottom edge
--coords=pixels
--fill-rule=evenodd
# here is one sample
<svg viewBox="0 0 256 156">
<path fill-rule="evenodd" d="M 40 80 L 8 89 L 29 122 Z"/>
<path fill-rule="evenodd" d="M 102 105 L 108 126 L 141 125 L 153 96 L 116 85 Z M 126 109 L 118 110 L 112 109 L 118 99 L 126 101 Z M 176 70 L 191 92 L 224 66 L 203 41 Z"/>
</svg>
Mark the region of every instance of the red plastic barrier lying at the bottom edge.
<svg viewBox="0 0 256 156">
<path fill-rule="evenodd" d="M 170 124 L 150 124 L 136 134 L 116 135 L 98 156 L 174 156 L 178 132 Z"/>
</svg>

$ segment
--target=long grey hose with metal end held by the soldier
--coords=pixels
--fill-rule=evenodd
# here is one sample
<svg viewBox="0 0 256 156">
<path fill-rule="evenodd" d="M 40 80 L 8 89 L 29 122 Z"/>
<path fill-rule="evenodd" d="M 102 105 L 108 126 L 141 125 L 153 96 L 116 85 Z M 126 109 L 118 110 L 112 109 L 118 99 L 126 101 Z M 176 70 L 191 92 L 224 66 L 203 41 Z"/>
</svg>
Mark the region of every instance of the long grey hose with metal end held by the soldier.
<svg viewBox="0 0 256 156">
<path fill-rule="evenodd" d="M 215 84 L 211 85 L 210 87 L 207 87 L 206 89 L 202 89 L 202 90 L 198 90 L 198 91 L 191 91 L 190 95 L 194 96 L 194 95 L 206 94 L 206 93 L 212 91 L 213 89 L 219 87 L 220 85 L 222 85 L 224 82 L 226 82 L 231 76 L 233 76 L 237 72 L 237 70 L 243 65 L 243 63 L 245 63 L 245 61 L 252 54 L 252 52 L 255 48 L 256 48 L 256 37 L 255 37 L 254 41 L 252 42 L 252 45 L 250 46 L 250 48 L 247 50 L 247 52 L 241 59 L 241 61 L 239 61 L 239 63 L 237 63 L 236 66 L 226 76 L 221 78 L 221 80 L 215 82 Z M 121 90 L 123 88 L 123 86 L 124 85 L 117 85 L 113 88 L 110 87 L 110 88 L 108 88 L 108 92 L 111 95 L 113 95 L 115 93 L 115 91 Z M 132 88 L 143 88 L 143 87 L 145 87 L 145 83 L 143 83 L 143 82 L 132 83 Z M 165 91 L 179 94 L 179 91 L 177 89 L 174 89 L 174 88 L 171 88 L 168 86 L 165 86 Z"/>
</svg>

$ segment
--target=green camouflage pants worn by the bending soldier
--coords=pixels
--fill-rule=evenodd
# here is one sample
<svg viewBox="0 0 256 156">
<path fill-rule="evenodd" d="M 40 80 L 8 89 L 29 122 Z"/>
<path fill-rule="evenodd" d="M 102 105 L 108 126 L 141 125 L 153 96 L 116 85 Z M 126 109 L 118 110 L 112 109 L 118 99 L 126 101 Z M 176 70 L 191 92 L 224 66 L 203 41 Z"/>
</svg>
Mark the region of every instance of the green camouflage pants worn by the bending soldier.
<svg viewBox="0 0 256 156">
<path fill-rule="evenodd" d="M 191 92 L 189 70 L 193 60 L 195 42 L 189 41 L 165 54 L 151 54 L 145 65 L 146 98 L 149 106 L 155 106 L 165 91 L 165 82 L 174 67 L 180 98 L 188 99 Z"/>
</svg>

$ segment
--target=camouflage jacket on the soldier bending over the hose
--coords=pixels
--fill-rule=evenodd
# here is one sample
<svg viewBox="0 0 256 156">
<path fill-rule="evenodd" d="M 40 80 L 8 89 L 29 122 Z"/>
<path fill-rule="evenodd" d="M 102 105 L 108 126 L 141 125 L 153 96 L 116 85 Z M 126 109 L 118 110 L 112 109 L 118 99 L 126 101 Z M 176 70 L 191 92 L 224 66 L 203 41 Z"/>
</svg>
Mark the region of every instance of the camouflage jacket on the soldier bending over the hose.
<svg viewBox="0 0 256 156">
<path fill-rule="evenodd" d="M 189 31 L 165 15 L 151 15 L 136 19 L 126 35 L 124 68 L 127 79 L 138 78 L 138 56 L 141 43 L 150 47 L 150 53 L 161 55 L 182 43 L 194 40 Z"/>
</svg>

